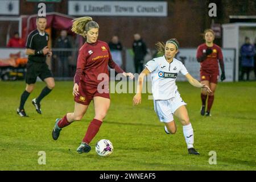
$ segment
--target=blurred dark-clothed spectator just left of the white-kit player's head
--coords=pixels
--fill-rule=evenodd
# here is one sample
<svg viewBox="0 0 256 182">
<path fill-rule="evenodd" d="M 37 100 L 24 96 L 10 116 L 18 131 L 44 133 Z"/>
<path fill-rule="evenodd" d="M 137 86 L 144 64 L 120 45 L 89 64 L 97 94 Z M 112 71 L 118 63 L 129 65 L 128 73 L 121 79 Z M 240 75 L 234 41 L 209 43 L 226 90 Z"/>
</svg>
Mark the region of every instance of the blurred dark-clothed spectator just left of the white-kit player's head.
<svg viewBox="0 0 256 182">
<path fill-rule="evenodd" d="M 135 73 L 141 73 L 143 70 L 144 57 L 147 53 L 147 47 L 139 34 L 134 34 L 133 52 Z"/>
</svg>

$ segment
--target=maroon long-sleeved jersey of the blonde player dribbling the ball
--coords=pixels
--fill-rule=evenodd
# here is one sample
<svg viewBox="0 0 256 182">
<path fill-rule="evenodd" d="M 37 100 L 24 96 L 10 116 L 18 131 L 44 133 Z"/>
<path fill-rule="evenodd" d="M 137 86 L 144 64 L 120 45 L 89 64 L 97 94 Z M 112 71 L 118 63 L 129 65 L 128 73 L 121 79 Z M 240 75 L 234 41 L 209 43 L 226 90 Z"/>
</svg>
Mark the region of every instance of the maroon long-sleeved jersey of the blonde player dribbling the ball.
<svg viewBox="0 0 256 182">
<path fill-rule="evenodd" d="M 102 81 L 106 80 L 105 73 L 109 77 L 108 65 L 115 69 L 117 73 L 124 71 L 114 63 L 107 43 L 97 40 L 96 43 L 85 43 L 79 50 L 77 58 L 76 75 L 74 82 L 84 82 L 85 84 L 97 86 Z"/>
</svg>

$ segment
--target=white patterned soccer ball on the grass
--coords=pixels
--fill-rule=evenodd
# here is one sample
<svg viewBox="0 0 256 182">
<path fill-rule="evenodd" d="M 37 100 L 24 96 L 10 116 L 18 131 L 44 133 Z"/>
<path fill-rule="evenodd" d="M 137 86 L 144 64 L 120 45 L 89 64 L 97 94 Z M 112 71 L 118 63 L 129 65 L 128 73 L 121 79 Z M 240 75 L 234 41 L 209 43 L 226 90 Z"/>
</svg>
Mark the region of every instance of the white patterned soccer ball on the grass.
<svg viewBox="0 0 256 182">
<path fill-rule="evenodd" d="M 101 139 L 96 143 L 95 150 L 100 156 L 108 156 L 112 154 L 114 147 L 108 139 Z"/>
</svg>

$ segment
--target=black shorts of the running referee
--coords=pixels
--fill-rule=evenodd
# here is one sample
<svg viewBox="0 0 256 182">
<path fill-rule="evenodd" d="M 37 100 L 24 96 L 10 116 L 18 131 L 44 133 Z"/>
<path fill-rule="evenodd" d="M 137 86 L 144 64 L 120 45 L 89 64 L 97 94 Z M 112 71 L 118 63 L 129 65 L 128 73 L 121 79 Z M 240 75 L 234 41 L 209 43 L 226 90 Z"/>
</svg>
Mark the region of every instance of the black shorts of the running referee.
<svg viewBox="0 0 256 182">
<path fill-rule="evenodd" d="M 48 77 L 53 77 L 48 65 L 44 63 L 28 61 L 26 84 L 35 84 L 36 78 L 39 77 L 42 81 Z"/>
</svg>

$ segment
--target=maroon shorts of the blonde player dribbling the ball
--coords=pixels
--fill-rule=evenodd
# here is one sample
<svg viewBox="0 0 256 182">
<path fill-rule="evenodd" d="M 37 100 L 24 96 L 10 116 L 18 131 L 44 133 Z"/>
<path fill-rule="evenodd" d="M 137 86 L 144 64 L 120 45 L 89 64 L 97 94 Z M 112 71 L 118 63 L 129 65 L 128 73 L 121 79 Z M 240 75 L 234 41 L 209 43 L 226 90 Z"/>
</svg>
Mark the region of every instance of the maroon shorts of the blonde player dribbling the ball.
<svg viewBox="0 0 256 182">
<path fill-rule="evenodd" d="M 79 94 L 74 97 L 74 101 L 82 104 L 82 105 L 89 105 L 90 101 L 93 100 L 93 97 L 104 97 L 109 98 L 109 89 L 98 89 L 97 86 L 79 84 Z"/>
</svg>

